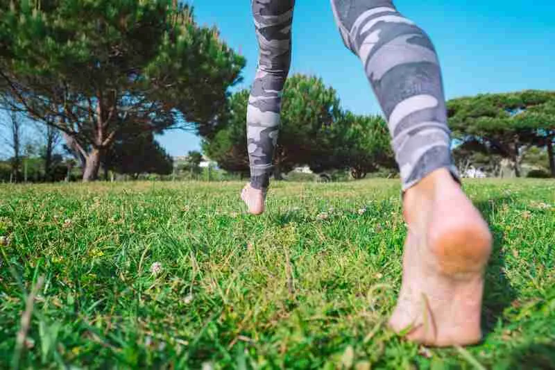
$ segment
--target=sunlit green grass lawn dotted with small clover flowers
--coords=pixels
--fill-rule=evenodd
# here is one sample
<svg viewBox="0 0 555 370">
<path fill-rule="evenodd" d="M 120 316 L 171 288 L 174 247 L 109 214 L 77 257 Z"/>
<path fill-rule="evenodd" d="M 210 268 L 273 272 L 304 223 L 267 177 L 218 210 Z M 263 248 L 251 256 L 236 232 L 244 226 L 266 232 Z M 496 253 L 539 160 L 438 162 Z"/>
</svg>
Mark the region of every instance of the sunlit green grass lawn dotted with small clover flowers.
<svg viewBox="0 0 555 370">
<path fill-rule="evenodd" d="M 396 180 L 280 183 L 259 218 L 241 185 L 0 185 L 0 367 L 555 369 L 554 181 L 466 182 L 495 234 L 485 337 L 441 350 L 386 328 Z"/>
</svg>

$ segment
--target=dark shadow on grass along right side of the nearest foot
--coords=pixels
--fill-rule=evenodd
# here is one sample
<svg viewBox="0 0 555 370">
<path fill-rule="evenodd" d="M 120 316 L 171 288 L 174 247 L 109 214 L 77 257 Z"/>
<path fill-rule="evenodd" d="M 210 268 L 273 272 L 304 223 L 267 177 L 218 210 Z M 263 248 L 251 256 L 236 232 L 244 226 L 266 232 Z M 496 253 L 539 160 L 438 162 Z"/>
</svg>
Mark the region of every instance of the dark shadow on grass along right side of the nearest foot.
<svg viewBox="0 0 555 370">
<path fill-rule="evenodd" d="M 502 319 L 503 312 L 517 298 L 517 292 L 505 274 L 505 253 L 503 230 L 493 223 L 495 212 L 503 205 L 510 205 L 513 200 L 509 197 L 499 197 L 488 201 L 479 201 L 475 205 L 490 225 L 493 234 L 493 251 L 486 269 L 484 286 L 484 303 L 482 308 L 482 329 L 484 335 L 495 329 L 495 324 Z"/>
</svg>

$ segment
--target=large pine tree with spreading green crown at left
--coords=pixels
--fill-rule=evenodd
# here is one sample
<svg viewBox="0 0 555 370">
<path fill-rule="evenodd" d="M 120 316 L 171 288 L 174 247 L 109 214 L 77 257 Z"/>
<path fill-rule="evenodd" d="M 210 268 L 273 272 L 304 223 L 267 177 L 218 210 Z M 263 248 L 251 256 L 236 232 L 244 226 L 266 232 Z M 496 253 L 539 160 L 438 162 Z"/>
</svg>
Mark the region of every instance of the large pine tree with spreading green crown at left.
<svg viewBox="0 0 555 370">
<path fill-rule="evenodd" d="M 0 3 L 1 88 L 60 128 L 88 179 L 115 138 L 192 125 L 210 135 L 244 58 L 170 0 Z"/>
</svg>

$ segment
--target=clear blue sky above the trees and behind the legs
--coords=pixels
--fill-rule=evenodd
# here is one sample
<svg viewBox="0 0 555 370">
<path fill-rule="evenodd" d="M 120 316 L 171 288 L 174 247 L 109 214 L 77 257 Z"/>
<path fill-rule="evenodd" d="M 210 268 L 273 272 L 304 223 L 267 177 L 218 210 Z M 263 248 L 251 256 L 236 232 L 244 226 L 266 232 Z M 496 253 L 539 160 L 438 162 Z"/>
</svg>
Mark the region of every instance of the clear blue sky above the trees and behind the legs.
<svg viewBox="0 0 555 370">
<path fill-rule="evenodd" d="M 244 82 L 255 73 L 257 43 L 248 0 L 194 0 L 199 24 L 247 59 Z M 480 92 L 555 90 L 555 2 L 552 0 L 397 0 L 395 5 L 432 37 L 443 67 L 447 99 Z M 379 113 L 360 62 L 343 47 L 328 0 L 297 0 L 291 72 L 316 74 L 332 85 L 343 107 Z M 160 137 L 171 155 L 199 149 L 198 137 L 171 131 Z"/>
</svg>

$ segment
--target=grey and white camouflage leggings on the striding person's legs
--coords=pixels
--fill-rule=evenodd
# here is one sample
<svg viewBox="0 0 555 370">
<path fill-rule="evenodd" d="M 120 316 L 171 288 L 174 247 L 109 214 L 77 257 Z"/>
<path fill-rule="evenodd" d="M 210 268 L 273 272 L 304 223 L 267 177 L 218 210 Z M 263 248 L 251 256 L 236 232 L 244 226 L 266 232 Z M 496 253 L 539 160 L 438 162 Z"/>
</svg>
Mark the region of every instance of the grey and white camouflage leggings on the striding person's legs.
<svg viewBox="0 0 555 370">
<path fill-rule="evenodd" d="M 441 69 L 429 37 L 391 0 L 331 2 L 343 42 L 361 59 L 387 117 L 403 190 L 440 168 L 456 177 Z M 250 184 L 263 189 L 273 171 L 295 1 L 252 0 L 252 6 L 260 52 L 247 110 L 247 145 Z"/>
</svg>

